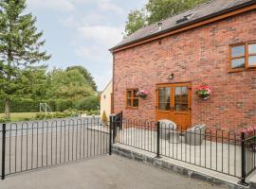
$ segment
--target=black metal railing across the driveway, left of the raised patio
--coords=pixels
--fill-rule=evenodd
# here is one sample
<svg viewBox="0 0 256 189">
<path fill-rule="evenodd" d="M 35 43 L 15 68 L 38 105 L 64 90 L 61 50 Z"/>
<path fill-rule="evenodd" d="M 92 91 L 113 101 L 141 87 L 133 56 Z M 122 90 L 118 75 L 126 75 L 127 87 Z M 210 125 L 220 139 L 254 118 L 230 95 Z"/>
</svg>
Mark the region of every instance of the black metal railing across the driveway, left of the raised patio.
<svg viewBox="0 0 256 189">
<path fill-rule="evenodd" d="M 109 133 L 98 117 L 1 124 L 1 179 L 109 153 Z"/>
</svg>

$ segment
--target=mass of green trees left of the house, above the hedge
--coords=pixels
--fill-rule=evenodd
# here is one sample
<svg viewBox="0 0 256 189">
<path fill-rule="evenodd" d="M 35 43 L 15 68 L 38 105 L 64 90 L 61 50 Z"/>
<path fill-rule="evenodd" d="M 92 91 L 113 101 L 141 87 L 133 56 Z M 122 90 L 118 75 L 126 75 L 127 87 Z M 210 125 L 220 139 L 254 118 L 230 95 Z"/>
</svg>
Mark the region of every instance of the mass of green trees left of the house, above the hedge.
<svg viewBox="0 0 256 189">
<path fill-rule="evenodd" d="M 78 102 L 85 109 L 96 109 L 97 86 L 85 68 L 47 72 L 41 64 L 50 59 L 41 49 L 46 41 L 37 31 L 36 17 L 25 11 L 26 0 L 0 0 L 0 104 L 4 104 L 0 110 L 5 109 L 9 118 L 10 107 L 31 112 L 44 101 L 60 111 L 77 107 Z"/>
</svg>

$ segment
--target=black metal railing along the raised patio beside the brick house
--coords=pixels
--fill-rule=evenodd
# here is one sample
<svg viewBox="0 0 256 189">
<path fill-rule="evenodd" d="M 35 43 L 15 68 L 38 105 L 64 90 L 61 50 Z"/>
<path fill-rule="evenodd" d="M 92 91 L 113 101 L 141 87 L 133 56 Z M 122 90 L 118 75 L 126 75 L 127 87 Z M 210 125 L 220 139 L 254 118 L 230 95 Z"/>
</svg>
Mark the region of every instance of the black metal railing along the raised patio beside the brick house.
<svg viewBox="0 0 256 189">
<path fill-rule="evenodd" d="M 241 131 L 208 129 L 204 125 L 181 130 L 173 123 L 130 119 L 113 121 L 115 124 L 122 125 L 114 131 L 115 143 L 155 153 L 156 158 L 164 156 L 204 167 L 239 178 L 242 184 L 247 184 L 247 176 L 256 169 L 256 138 Z"/>
</svg>

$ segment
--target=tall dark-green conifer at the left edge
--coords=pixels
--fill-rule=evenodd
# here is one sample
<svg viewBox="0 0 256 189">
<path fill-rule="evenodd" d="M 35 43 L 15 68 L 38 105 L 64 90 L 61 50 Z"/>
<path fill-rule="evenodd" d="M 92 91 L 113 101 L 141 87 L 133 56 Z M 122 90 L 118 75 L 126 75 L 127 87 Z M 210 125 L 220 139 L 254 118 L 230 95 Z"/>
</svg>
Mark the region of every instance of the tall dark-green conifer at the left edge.
<svg viewBox="0 0 256 189">
<path fill-rule="evenodd" d="M 23 70 L 49 60 L 43 32 L 37 32 L 36 18 L 25 14 L 26 0 L 0 0 L 0 97 L 5 101 L 5 114 L 9 118 L 11 99 L 19 95 Z"/>
</svg>

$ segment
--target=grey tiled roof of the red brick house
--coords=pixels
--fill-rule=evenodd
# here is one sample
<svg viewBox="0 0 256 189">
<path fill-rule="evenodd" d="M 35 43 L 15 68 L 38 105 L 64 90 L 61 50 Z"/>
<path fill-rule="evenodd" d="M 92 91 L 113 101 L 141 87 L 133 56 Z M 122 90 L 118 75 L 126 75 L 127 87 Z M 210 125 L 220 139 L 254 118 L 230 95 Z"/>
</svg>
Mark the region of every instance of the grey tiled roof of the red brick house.
<svg viewBox="0 0 256 189">
<path fill-rule="evenodd" d="M 180 14 L 174 15 L 166 20 L 161 21 L 162 28 L 159 30 L 158 23 L 151 26 L 145 26 L 138 29 L 135 33 L 124 38 L 120 43 L 115 45 L 112 49 L 117 49 L 125 45 L 142 41 L 144 39 L 168 32 L 178 27 L 188 26 L 190 23 L 214 17 L 215 15 L 229 12 L 233 9 L 239 9 L 248 5 L 256 4 L 256 0 L 212 0 L 209 3 L 202 4 L 194 9 L 189 9 Z M 186 20 L 186 16 L 190 18 Z M 184 19 L 185 18 L 185 19 Z M 177 22 L 184 19 L 183 22 Z"/>
</svg>

